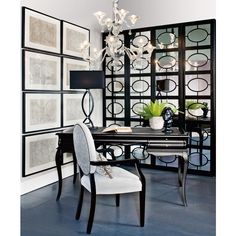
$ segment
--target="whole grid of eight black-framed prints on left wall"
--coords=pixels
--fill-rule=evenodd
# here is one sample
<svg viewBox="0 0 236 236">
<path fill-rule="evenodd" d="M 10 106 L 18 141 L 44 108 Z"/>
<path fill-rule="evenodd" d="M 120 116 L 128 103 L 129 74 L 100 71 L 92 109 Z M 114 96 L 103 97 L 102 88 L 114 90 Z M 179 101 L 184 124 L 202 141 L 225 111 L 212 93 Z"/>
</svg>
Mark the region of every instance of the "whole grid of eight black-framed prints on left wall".
<svg viewBox="0 0 236 236">
<path fill-rule="evenodd" d="M 22 7 L 23 177 L 55 168 L 56 132 L 85 118 L 82 90 L 70 90 L 69 71 L 89 70 L 78 51 L 89 35 L 89 29 Z M 64 154 L 64 164 L 72 159 Z"/>
</svg>

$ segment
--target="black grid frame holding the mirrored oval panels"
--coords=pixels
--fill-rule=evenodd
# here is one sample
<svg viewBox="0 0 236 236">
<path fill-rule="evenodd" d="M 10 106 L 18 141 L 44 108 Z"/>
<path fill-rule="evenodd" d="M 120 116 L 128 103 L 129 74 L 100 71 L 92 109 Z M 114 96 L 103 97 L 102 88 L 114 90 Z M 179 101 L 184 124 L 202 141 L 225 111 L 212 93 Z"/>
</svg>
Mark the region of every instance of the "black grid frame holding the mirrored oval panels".
<svg viewBox="0 0 236 236">
<path fill-rule="evenodd" d="M 209 37 L 209 43 L 206 45 L 201 45 L 201 43 L 196 43 L 196 45 L 186 45 L 186 39 L 188 40 L 188 35 L 186 36 L 186 29 L 187 27 L 195 27 L 198 28 L 202 25 L 209 25 L 209 31 L 208 34 Z M 124 40 L 123 43 L 126 47 L 130 47 L 130 42 L 132 41 L 132 37 L 137 33 L 143 33 L 143 32 L 149 32 L 150 37 L 149 40 L 152 43 L 152 45 L 156 46 L 156 32 L 157 30 L 164 30 L 164 29 L 174 29 L 177 28 L 178 30 L 178 46 L 176 48 L 164 48 L 164 49 L 155 49 L 151 60 L 150 60 L 150 71 L 145 73 L 132 73 L 130 69 L 130 61 L 127 55 L 124 56 L 124 68 L 123 73 L 114 73 L 114 71 L 111 71 L 109 74 L 106 74 L 106 79 L 111 80 L 114 82 L 114 80 L 122 79 L 124 80 L 123 84 L 123 93 L 116 93 L 116 92 L 109 92 L 107 89 L 104 90 L 103 93 L 103 126 L 109 126 L 112 123 L 119 123 L 126 125 L 126 126 L 133 126 L 133 124 L 140 123 L 142 124 L 143 120 L 141 117 L 138 116 L 132 116 L 132 106 L 131 101 L 142 101 L 142 100 L 153 100 L 157 96 L 156 91 L 156 77 L 158 76 L 176 76 L 178 80 L 178 92 L 175 95 L 168 95 L 168 94 L 161 94 L 158 98 L 159 99 L 172 99 L 178 102 L 178 108 L 181 111 L 184 111 L 186 113 L 185 108 L 185 102 L 186 100 L 199 100 L 204 101 L 207 100 L 209 102 L 209 113 L 210 117 L 207 119 L 203 119 L 202 117 L 198 117 L 195 120 L 188 120 L 186 118 L 186 114 L 179 114 L 178 118 L 176 120 L 176 124 L 181 125 L 182 127 L 189 129 L 190 132 L 195 132 L 194 130 L 191 130 L 192 127 L 196 127 L 199 131 L 199 134 L 201 137 L 205 137 L 205 134 L 207 132 L 208 140 L 210 144 L 205 144 L 205 142 L 202 142 L 202 140 L 197 140 L 189 142 L 189 155 L 191 155 L 191 152 L 193 150 L 196 150 L 197 153 L 200 153 L 199 156 L 199 163 L 197 165 L 193 165 L 191 168 L 191 158 L 190 158 L 190 168 L 189 172 L 194 174 L 202 174 L 202 175 L 210 175 L 214 176 L 216 173 L 216 21 L 215 19 L 209 19 L 209 20 L 202 20 L 202 21 L 195 21 L 195 22 L 185 22 L 185 23 L 179 23 L 179 24 L 170 24 L 170 25 L 162 25 L 162 26 L 155 26 L 155 27 L 146 27 L 146 28 L 140 28 L 140 29 L 133 29 L 132 35 L 128 34 L 128 31 L 123 31 Z M 103 34 L 103 39 L 107 36 L 106 33 Z M 104 42 L 104 40 L 103 40 Z M 105 43 L 103 43 L 103 46 L 105 46 Z M 208 63 L 209 68 L 203 69 L 203 70 L 187 70 L 185 67 L 186 65 L 186 57 L 187 53 L 191 51 L 196 51 L 197 53 L 201 54 L 201 52 L 209 52 L 208 55 Z M 156 59 L 156 53 L 173 53 L 176 52 L 178 55 L 178 70 L 177 71 L 168 71 L 166 70 L 165 73 L 156 71 L 156 65 L 155 65 L 155 59 Z M 106 62 L 103 64 L 104 71 L 107 70 L 106 68 Z M 207 85 L 209 88 L 209 94 L 187 94 L 187 84 L 186 84 L 186 78 L 187 76 L 194 76 L 198 78 L 200 75 L 202 76 L 209 76 L 209 84 Z M 131 80 L 132 78 L 138 78 L 138 77 L 145 77 L 150 79 L 150 94 L 143 95 L 143 94 L 132 94 L 131 93 Z M 200 78 L 200 77 L 199 77 Z M 114 84 L 114 83 L 113 83 Z M 113 86 L 113 85 L 112 85 Z M 112 88 L 113 91 L 114 88 Z M 122 102 L 122 106 L 120 106 L 120 109 L 122 111 L 122 116 L 116 115 L 114 110 L 115 108 L 113 105 L 112 109 L 110 109 L 110 113 L 108 115 L 108 101 L 110 103 L 114 103 L 116 101 Z M 200 138 L 200 137 L 199 137 Z M 126 147 L 127 148 L 127 147 Z M 201 154 L 202 152 L 205 152 L 207 154 Z M 208 159 L 203 160 L 205 156 Z M 203 157 L 203 159 L 202 159 Z M 202 168 L 204 165 L 202 165 L 203 162 L 207 162 L 207 168 Z M 175 169 L 174 166 L 171 165 L 158 165 L 156 164 L 156 160 L 154 158 L 151 158 L 150 163 L 145 164 L 146 167 L 151 168 L 159 168 L 159 169 Z"/>
</svg>

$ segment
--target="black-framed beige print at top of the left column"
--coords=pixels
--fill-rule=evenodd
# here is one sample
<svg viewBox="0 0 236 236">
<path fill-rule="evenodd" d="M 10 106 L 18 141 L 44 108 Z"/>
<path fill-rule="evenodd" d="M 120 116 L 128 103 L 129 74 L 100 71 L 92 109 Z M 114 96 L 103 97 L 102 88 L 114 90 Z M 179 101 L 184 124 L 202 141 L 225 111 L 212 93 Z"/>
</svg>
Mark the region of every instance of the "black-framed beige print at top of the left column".
<svg viewBox="0 0 236 236">
<path fill-rule="evenodd" d="M 23 7 L 22 47 L 61 52 L 61 21 Z"/>
</svg>

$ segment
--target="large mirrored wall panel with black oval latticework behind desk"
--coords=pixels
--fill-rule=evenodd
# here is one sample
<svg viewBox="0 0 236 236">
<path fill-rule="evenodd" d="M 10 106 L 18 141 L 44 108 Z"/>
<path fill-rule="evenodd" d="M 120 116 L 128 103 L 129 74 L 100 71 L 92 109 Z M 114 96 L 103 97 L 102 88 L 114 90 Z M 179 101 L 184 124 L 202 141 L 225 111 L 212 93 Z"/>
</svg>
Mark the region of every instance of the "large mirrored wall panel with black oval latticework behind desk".
<svg viewBox="0 0 236 236">
<path fill-rule="evenodd" d="M 142 108 L 154 100 L 168 103 L 175 109 L 174 126 L 189 132 L 188 171 L 203 175 L 215 175 L 216 163 L 215 25 L 215 20 L 203 20 L 124 31 L 121 47 L 135 51 L 151 43 L 151 57 L 148 52 L 137 60 L 107 57 L 103 67 L 104 126 L 148 126 Z M 176 170 L 174 155 L 154 157 L 144 151 L 139 145 L 123 147 L 119 155 L 138 158 L 146 167 Z"/>
</svg>

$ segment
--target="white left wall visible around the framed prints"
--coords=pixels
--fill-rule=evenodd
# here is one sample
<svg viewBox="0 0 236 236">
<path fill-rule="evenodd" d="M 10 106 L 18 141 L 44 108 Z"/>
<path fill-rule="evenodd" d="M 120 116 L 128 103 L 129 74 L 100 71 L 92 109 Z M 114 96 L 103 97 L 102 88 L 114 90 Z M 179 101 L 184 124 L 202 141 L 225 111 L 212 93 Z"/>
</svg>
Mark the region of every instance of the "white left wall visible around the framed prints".
<svg viewBox="0 0 236 236">
<path fill-rule="evenodd" d="M 101 32 L 93 13 L 99 9 L 105 12 L 111 12 L 110 0 L 99 0 L 99 2 L 94 0 L 22 0 L 21 5 L 90 29 L 91 43 L 95 47 L 101 48 Z M 95 101 L 92 119 L 95 125 L 101 126 L 102 92 L 99 90 L 92 92 Z M 62 172 L 63 177 L 72 175 L 72 165 L 63 166 Z M 24 194 L 53 183 L 57 179 L 56 169 L 21 178 L 21 193 Z"/>
</svg>

